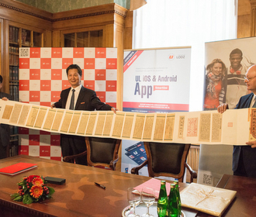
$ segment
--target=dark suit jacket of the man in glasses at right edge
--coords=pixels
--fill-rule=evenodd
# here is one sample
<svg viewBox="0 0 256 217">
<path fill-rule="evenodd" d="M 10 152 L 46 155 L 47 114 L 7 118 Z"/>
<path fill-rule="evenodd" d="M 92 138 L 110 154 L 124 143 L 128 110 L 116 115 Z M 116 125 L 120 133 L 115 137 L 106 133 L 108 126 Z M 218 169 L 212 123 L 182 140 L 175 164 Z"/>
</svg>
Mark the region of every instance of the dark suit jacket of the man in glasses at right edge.
<svg viewBox="0 0 256 217">
<path fill-rule="evenodd" d="M 240 98 L 236 109 L 249 108 L 254 94 L 244 95 Z M 251 146 L 234 146 L 233 171 L 237 170 L 240 154 L 243 155 L 244 169 L 249 177 L 256 177 L 256 148 Z"/>
</svg>

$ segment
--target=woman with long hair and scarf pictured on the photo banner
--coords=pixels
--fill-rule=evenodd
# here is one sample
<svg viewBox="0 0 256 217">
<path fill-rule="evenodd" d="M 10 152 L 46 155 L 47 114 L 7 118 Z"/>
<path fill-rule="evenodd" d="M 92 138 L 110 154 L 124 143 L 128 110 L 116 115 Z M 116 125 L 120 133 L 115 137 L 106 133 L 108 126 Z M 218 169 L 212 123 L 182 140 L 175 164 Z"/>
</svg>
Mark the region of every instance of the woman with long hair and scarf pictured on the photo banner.
<svg viewBox="0 0 256 217">
<path fill-rule="evenodd" d="M 220 59 L 214 59 L 206 67 L 206 95 L 204 110 L 216 110 L 220 105 L 220 91 L 223 89 L 223 77 L 226 66 Z"/>
</svg>

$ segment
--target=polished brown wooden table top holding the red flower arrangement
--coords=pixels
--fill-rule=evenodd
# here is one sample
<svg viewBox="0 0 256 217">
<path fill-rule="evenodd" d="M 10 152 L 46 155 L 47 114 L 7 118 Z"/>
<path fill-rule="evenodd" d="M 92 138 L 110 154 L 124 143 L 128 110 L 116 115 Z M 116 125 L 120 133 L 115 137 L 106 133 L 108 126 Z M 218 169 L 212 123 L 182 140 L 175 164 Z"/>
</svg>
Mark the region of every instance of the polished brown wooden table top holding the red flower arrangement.
<svg viewBox="0 0 256 217">
<path fill-rule="evenodd" d="M 150 177 L 24 155 L 0 160 L 0 168 L 19 162 L 36 164 L 38 167 L 14 176 L 0 174 L 0 205 L 22 209 L 22 212 L 28 212 L 33 216 L 122 216 L 123 208 L 129 205 L 127 188 L 136 187 L 150 179 Z M 18 191 L 17 183 L 22 177 L 32 174 L 65 178 L 66 183 L 47 184 L 54 188 L 55 193 L 53 198 L 44 202 L 30 205 L 13 202 L 10 195 Z M 103 184 L 106 189 L 99 188 L 95 182 Z M 182 190 L 187 184 L 180 183 L 180 186 Z M 187 217 L 196 214 L 196 212 L 189 213 L 192 214 Z"/>
</svg>

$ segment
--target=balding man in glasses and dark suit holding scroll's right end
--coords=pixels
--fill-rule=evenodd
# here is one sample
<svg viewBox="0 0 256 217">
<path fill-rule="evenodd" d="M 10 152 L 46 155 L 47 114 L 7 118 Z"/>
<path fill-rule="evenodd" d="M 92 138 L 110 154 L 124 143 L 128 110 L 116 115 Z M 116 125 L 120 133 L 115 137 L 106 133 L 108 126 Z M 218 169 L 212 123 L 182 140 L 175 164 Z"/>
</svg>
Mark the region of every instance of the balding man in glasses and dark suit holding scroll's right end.
<svg viewBox="0 0 256 217">
<path fill-rule="evenodd" d="M 256 108 L 256 65 L 248 68 L 244 77 L 247 90 L 251 94 L 244 95 L 240 98 L 237 107 L 239 108 Z M 218 107 L 218 112 L 223 113 L 228 109 L 228 105 L 222 104 Z M 233 151 L 233 171 L 234 175 L 245 177 L 256 177 L 256 141 L 247 142 L 247 146 L 234 146 Z"/>
</svg>

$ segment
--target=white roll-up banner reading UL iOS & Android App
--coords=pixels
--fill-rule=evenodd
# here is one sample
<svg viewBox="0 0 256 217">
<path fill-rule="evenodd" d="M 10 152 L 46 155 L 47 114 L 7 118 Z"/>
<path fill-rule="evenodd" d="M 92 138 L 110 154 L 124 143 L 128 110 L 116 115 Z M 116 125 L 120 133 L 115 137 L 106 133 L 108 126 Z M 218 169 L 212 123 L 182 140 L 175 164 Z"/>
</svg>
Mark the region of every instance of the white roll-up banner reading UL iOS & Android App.
<svg viewBox="0 0 256 217">
<path fill-rule="evenodd" d="M 123 57 L 124 112 L 189 112 L 191 47 L 125 50 Z M 146 157 L 142 142 L 123 140 L 121 171 Z"/>
</svg>

